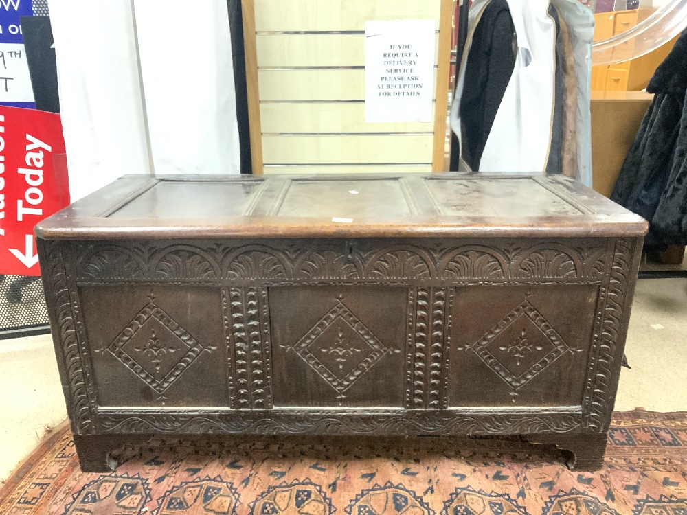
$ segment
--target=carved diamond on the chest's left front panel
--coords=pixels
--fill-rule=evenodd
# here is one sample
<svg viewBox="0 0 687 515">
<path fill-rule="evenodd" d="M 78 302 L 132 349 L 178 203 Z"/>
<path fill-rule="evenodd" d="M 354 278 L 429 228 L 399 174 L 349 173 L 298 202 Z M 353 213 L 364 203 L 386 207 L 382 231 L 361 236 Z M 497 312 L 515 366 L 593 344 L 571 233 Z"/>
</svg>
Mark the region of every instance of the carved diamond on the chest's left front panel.
<svg viewBox="0 0 687 515">
<path fill-rule="evenodd" d="M 160 395 L 205 350 L 152 297 L 108 349 Z"/>
</svg>

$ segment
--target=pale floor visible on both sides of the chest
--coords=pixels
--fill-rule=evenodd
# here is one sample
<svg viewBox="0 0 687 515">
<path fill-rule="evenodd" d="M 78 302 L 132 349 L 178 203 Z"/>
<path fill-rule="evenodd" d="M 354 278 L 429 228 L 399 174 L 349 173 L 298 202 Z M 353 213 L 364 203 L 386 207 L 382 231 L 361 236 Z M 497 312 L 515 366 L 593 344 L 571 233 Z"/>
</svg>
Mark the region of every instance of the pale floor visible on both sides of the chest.
<svg viewBox="0 0 687 515">
<path fill-rule="evenodd" d="M 687 411 L 687 279 L 642 279 L 617 411 Z M 67 416 L 49 336 L 0 341 L 0 480 Z"/>
</svg>

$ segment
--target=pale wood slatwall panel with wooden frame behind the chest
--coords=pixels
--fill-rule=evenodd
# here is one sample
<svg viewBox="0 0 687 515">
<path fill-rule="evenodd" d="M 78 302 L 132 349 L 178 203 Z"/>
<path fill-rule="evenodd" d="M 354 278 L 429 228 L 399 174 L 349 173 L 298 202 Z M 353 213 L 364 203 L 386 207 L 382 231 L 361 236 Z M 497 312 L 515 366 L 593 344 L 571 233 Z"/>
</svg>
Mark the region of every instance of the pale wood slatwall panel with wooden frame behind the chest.
<svg viewBox="0 0 687 515">
<path fill-rule="evenodd" d="M 430 172 L 436 137 L 443 152 L 445 114 L 442 124 L 365 123 L 365 21 L 437 20 L 439 69 L 440 44 L 450 41 L 451 5 L 452 0 L 243 0 L 245 33 L 255 35 L 246 45 L 247 67 L 254 67 L 248 81 L 258 84 L 256 98 L 249 99 L 251 141 L 260 155 L 254 173 Z M 442 24 L 448 26 L 445 41 L 441 9 L 449 16 Z M 447 87 L 448 82 L 437 89 L 444 109 L 436 112 L 445 113 Z"/>
</svg>

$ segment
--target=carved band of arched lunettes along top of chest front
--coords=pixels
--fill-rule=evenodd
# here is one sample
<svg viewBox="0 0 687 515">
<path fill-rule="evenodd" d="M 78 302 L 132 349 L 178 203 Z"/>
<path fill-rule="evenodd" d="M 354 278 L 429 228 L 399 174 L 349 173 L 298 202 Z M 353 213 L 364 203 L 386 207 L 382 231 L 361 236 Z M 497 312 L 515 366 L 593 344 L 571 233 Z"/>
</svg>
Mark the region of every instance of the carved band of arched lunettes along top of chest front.
<svg viewBox="0 0 687 515">
<path fill-rule="evenodd" d="M 604 241 L 493 240 L 447 246 L 441 240 L 263 242 L 161 241 L 80 244 L 78 280 L 229 284 L 250 282 L 401 281 L 451 284 L 598 283 Z"/>
</svg>

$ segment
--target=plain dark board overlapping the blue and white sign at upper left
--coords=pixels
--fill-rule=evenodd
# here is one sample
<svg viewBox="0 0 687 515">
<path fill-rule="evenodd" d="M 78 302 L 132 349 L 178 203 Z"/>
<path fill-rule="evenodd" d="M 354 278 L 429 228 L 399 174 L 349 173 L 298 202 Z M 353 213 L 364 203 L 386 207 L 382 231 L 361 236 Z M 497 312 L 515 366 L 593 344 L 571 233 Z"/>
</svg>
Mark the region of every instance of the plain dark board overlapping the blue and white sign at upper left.
<svg viewBox="0 0 687 515">
<path fill-rule="evenodd" d="M 59 113 L 57 61 L 49 16 L 22 16 L 21 32 L 36 109 Z"/>
</svg>

